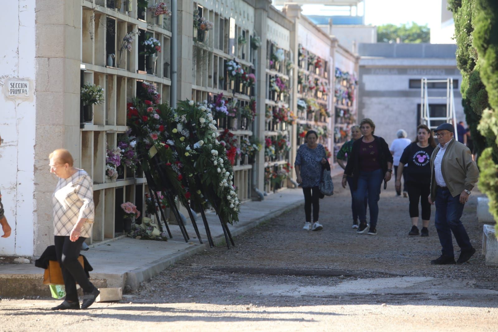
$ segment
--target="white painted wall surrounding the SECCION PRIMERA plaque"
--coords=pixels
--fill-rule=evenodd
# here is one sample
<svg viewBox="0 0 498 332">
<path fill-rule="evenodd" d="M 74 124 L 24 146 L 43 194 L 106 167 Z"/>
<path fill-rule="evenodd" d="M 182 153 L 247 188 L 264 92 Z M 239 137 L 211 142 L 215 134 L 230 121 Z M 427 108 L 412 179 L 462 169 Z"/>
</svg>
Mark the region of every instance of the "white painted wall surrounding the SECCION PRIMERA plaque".
<svg viewBox="0 0 498 332">
<path fill-rule="evenodd" d="M 33 254 L 35 0 L 2 1 L 0 30 L 0 189 L 12 227 L 0 255 Z M 9 99 L 9 80 L 28 80 L 30 97 Z"/>
</svg>

